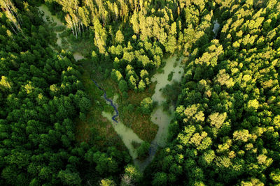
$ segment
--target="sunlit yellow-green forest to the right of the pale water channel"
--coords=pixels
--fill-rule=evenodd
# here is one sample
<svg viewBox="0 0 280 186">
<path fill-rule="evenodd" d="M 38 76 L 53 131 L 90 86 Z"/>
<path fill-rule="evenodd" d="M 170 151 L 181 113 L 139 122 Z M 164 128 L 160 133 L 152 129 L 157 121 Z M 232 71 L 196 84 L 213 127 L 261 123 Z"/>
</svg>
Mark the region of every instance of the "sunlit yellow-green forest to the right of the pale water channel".
<svg viewBox="0 0 280 186">
<path fill-rule="evenodd" d="M 188 3 L 185 77 L 169 144 L 146 169 L 147 183 L 279 184 L 279 1 Z M 209 10 L 223 23 L 213 40 L 212 13 L 200 15 Z M 165 47 L 172 51 L 172 42 Z"/>
</svg>

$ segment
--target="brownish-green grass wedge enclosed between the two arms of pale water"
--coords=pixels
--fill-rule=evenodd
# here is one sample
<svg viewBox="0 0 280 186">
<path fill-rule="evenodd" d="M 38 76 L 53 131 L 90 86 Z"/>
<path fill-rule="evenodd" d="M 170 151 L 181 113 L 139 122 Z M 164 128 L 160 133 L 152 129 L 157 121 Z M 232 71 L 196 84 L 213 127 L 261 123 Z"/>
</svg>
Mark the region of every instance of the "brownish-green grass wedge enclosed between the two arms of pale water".
<svg viewBox="0 0 280 186">
<path fill-rule="evenodd" d="M 91 73 L 92 78 L 96 80 L 100 87 L 104 88 L 107 98 L 113 99 L 113 95 L 119 95 L 117 103 L 119 118 L 127 127 L 132 128 L 135 134 L 144 141 L 151 142 L 158 132 L 158 125 L 151 122 L 151 116 L 144 115 L 139 111 L 140 103 L 144 98 L 151 97 L 154 93 L 155 84 L 151 83 L 149 88 L 144 92 L 136 93 L 132 90 L 128 91 L 128 98 L 123 98 L 123 93 L 118 88 L 118 84 L 111 77 L 104 78 L 104 73 L 99 72 L 98 68 L 94 68 L 89 62 L 83 64 L 85 69 L 94 69 Z M 125 107 L 132 104 L 133 110 L 126 111 Z"/>
</svg>

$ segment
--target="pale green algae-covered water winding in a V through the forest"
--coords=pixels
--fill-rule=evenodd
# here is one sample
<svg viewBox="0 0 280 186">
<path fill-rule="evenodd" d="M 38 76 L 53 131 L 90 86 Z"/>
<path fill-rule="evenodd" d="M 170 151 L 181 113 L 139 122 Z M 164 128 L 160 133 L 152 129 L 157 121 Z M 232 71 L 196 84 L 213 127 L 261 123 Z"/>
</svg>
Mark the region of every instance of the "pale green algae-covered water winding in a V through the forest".
<svg viewBox="0 0 280 186">
<path fill-rule="evenodd" d="M 50 23 L 55 22 L 58 26 L 63 25 L 62 22 L 56 17 L 51 15 L 50 11 L 48 10 L 47 6 L 42 5 L 38 7 L 41 12 L 44 13 L 43 20 L 45 22 L 48 22 L 47 17 L 50 17 Z M 57 34 L 57 45 L 62 47 L 62 38 L 60 38 L 59 33 L 55 32 Z M 83 59 L 84 56 L 78 52 L 73 53 L 74 59 L 76 61 Z M 123 140 L 123 143 L 127 147 L 127 149 L 130 152 L 130 155 L 134 159 L 134 163 L 139 166 L 139 168 L 143 171 L 146 166 L 153 160 L 153 157 L 155 157 L 155 153 L 158 150 L 158 147 L 164 147 L 167 143 L 167 134 L 168 134 L 168 125 L 170 121 L 172 121 L 173 118 L 173 112 L 174 108 L 171 107 L 172 114 L 167 114 L 167 112 L 163 111 L 162 108 L 162 102 L 165 101 L 165 98 L 162 97 L 161 89 L 164 88 L 167 84 L 172 84 L 172 82 L 168 82 L 167 78 L 170 72 L 174 72 L 172 81 L 181 81 L 181 77 L 183 76 L 183 65 L 181 65 L 181 60 L 176 61 L 176 56 L 172 56 L 169 59 L 165 59 L 166 65 L 163 68 L 162 73 L 157 73 L 153 76 L 151 79 L 153 82 L 157 82 L 155 86 L 155 93 L 152 96 L 152 100 L 155 102 L 158 102 L 158 107 L 156 107 L 151 115 L 151 121 L 158 125 L 158 133 L 155 136 L 155 139 L 151 142 L 151 148 L 149 149 L 149 156 L 144 161 L 137 160 L 137 150 L 134 149 L 132 146 L 132 141 L 135 141 L 139 144 L 143 142 L 142 139 L 140 139 L 137 134 L 133 132 L 133 130 L 130 127 L 125 126 L 121 121 L 117 121 L 116 117 L 118 116 L 118 109 L 113 102 L 116 102 L 118 99 L 118 96 L 114 96 L 113 100 L 110 100 L 106 97 L 106 91 L 104 91 L 103 88 L 101 88 L 97 82 L 95 82 L 93 79 L 92 81 L 94 84 L 102 91 L 104 91 L 104 99 L 111 104 L 111 106 L 115 109 L 116 114 L 106 113 L 102 112 L 102 116 L 107 118 L 109 121 L 111 121 L 114 130 L 118 133 L 120 138 Z"/>
</svg>

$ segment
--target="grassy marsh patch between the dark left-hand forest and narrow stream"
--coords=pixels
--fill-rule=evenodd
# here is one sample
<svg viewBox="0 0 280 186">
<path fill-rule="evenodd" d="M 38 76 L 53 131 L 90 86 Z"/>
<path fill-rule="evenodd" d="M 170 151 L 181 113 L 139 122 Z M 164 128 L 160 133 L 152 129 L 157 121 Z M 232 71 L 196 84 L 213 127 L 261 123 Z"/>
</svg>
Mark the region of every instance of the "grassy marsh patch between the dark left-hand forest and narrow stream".
<svg viewBox="0 0 280 186">
<path fill-rule="evenodd" d="M 76 119 L 77 141 L 93 141 L 99 144 L 100 148 L 116 146 L 120 150 L 125 150 L 123 141 L 113 129 L 110 121 L 102 116 L 102 111 L 107 106 L 102 98 L 103 92 L 91 81 L 89 72 L 83 72 L 82 81 L 85 85 L 85 92 L 92 100 L 92 107 L 87 113 L 85 121 Z"/>
</svg>

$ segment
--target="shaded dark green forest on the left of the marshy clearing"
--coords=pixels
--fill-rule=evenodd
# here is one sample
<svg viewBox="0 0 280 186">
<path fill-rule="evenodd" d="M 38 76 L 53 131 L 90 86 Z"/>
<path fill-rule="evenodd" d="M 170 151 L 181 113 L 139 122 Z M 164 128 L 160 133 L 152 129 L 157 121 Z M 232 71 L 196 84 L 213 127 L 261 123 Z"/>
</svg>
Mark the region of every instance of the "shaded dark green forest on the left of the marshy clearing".
<svg viewBox="0 0 280 186">
<path fill-rule="evenodd" d="M 119 175 L 130 162 L 126 151 L 76 141 L 74 119 L 84 121 L 93 101 L 73 55 L 53 50 L 36 7 L 9 2 L 17 18 L 0 12 L 0 185 L 85 185 Z"/>
</svg>

